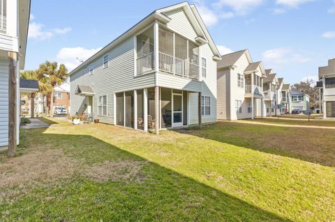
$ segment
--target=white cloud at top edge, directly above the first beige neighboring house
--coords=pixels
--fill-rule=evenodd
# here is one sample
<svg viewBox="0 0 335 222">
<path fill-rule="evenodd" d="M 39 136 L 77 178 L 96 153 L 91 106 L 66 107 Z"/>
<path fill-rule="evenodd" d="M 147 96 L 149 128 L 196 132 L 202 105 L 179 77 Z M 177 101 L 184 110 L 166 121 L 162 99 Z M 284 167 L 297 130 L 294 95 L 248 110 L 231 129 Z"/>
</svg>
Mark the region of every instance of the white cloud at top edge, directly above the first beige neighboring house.
<svg viewBox="0 0 335 222">
<path fill-rule="evenodd" d="M 223 8 L 228 6 L 234 10 L 237 15 L 246 15 L 257 6 L 260 6 L 265 0 L 219 0 L 214 6 Z"/>
</svg>

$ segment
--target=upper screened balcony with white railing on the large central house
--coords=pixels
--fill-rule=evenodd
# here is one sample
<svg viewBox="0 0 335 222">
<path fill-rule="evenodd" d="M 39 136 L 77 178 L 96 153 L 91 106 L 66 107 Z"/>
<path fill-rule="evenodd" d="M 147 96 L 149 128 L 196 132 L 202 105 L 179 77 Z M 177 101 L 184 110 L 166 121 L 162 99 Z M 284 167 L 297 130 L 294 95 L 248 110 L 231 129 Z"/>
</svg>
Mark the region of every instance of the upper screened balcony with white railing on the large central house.
<svg viewBox="0 0 335 222">
<path fill-rule="evenodd" d="M 136 74 L 165 72 L 199 79 L 199 46 L 177 33 L 158 28 L 158 69 L 155 68 L 154 26 L 136 36 Z"/>
</svg>

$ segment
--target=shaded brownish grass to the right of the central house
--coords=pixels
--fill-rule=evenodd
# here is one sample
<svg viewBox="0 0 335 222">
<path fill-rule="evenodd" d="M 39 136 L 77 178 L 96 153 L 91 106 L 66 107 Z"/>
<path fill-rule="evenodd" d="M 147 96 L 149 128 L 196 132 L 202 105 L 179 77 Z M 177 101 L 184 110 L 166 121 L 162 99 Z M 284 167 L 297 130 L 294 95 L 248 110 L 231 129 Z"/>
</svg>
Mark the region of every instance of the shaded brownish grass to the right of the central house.
<svg viewBox="0 0 335 222">
<path fill-rule="evenodd" d="M 323 166 L 335 166 L 335 129 L 313 129 L 218 122 L 176 130 L 221 143 L 292 157 Z"/>
</svg>

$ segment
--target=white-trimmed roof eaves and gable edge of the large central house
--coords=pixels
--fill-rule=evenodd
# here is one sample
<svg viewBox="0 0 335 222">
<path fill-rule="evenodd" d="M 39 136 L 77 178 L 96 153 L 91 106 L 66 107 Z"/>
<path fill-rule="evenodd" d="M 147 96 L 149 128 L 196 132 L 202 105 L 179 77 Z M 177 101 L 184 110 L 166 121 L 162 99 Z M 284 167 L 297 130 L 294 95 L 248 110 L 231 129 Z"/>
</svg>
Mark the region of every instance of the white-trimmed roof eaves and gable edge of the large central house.
<svg viewBox="0 0 335 222">
<path fill-rule="evenodd" d="M 162 24 L 166 24 L 171 21 L 170 17 L 165 15 L 165 12 L 169 10 L 175 10 L 177 8 L 183 8 L 186 15 L 188 16 L 188 19 L 192 23 L 195 32 L 199 35 L 200 38 L 196 38 L 195 41 L 198 41 L 200 43 L 205 43 L 204 40 L 207 41 L 209 44 L 209 47 L 211 48 L 211 51 L 213 52 L 214 56 L 213 59 L 220 60 L 220 53 L 218 52 L 218 49 L 216 48 L 215 43 L 213 42 L 211 36 L 209 35 L 206 26 L 202 22 L 202 19 L 200 15 L 198 14 L 198 11 L 195 9 L 195 6 L 191 6 L 188 4 L 187 1 L 178 3 L 172 6 L 168 6 L 165 8 L 161 8 L 158 10 L 154 10 L 151 14 L 147 15 L 147 17 L 144 17 L 140 22 L 137 22 L 131 29 L 128 29 L 128 31 L 124 32 L 123 34 L 119 35 L 115 40 L 110 42 L 108 45 L 103 47 L 100 51 L 98 51 L 96 54 L 88 58 L 84 63 L 80 64 L 72 70 L 68 75 L 71 76 L 81 68 L 84 68 L 85 66 L 89 65 L 89 63 L 93 62 L 96 58 L 102 57 L 103 55 L 107 54 L 108 51 L 110 51 L 112 48 L 119 45 L 122 41 L 131 38 L 133 35 L 138 33 L 139 31 L 146 28 L 149 24 L 152 24 L 155 20 L 158 22 L 161 22 Z M 207 39 L 206 39 L 207 38 Z"/>
</svg>

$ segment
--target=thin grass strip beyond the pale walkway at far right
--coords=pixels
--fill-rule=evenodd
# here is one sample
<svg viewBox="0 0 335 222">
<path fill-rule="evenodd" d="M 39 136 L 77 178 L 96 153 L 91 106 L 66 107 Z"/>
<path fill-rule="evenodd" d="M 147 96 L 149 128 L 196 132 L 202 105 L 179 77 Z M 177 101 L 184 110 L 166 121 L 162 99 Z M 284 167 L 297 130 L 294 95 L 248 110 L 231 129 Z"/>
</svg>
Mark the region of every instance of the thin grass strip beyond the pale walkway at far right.
<svg viewBox="0 0 335 222">
<path fill-rule="evenodd" d="M 284 125 L 307 125 L 307 126 L 320 126 L 320 127 L 335 127 L 335 120 L 291 120 L 290 118 L 255 118 L 257 122 L 284 124 Z"/>
</svg>

